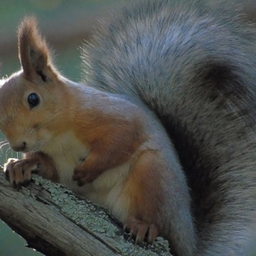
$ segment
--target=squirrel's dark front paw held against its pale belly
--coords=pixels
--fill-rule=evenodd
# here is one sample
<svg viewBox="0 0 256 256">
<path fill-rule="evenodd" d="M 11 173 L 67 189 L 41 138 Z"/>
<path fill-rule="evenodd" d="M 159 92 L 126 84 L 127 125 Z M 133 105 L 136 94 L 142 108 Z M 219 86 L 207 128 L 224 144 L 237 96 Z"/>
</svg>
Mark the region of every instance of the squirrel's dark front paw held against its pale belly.
<svg viewBox="0 0 256 256">
<path fill-rule="evenodd" d="M 73 171 L 73 181 L 76 181 L 79 187 L 85 183 L 92 183 L 96 177 L 98 177 L 98 173 L 86 170 L 83 164 L 75 167 Z"/>
</svg>

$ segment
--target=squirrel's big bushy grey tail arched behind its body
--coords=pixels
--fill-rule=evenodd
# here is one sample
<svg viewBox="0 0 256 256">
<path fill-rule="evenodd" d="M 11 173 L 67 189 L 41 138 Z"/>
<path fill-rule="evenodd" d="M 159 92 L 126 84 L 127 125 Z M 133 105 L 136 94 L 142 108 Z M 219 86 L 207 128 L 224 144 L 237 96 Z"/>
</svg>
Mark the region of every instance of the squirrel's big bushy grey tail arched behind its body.
<svg viewBox="0 0 256 256">
<path fill-rule="evenodd" d="M 84 80 L 165 125 L 191 189 L 195 255 L 244 255 L 256 212 L 255 32 L 224 3 L 178 2 L 124 9 L 84 47 Z"/>
</svg>

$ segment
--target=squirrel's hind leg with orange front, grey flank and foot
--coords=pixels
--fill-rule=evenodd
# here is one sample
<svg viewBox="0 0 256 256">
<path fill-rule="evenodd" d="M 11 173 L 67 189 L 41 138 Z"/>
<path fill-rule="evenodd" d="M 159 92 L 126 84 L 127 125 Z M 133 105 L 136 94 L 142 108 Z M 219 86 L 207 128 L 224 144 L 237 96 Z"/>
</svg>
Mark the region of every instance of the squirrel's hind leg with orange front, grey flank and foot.
<svg viewBox="0 0 256 256">
<path fill-rule="evenodd" d="M 183 171 L 170 162 L 175 158 L 165 157 L 160 150 L 146 149 L 131 162 L 121 194 L 129 205 L 124 227 L 137 242 L 151 243 L 160 235 L 175 255 L 192 255 L 195 229 Z"/>
</svg>

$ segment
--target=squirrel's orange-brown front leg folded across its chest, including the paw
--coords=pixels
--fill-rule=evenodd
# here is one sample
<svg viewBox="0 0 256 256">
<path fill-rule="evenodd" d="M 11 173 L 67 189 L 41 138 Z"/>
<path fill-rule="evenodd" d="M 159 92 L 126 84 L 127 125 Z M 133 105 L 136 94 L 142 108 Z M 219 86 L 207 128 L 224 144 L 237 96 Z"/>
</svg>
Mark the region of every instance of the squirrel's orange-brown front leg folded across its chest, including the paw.
<svg viewBox="0 0 256 256">
<path fill-rule="evenodd" d="M 84 124 L 74 126 L 79 127 L 76 134 L 88 145 L 90 154 L 74 170 L 73 179 L 79 180 L 79 185 L 92 182 L 105 170 L 124 164 L 144 140 L 142 124 L 136 119 L 119 119 L 117 113 L 109 116 L 95 108 L 83 115 L 86 116 Z"/>
</svg>

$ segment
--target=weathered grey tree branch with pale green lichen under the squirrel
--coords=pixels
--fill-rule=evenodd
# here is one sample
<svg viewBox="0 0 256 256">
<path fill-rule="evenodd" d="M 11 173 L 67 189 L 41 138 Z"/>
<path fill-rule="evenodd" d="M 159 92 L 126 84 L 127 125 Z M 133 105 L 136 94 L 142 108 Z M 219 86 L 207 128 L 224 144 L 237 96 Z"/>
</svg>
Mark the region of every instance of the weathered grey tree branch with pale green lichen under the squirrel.
<svg viewBox="0 0 256 256">
<path fill-rule="evenodd" d="M 0 171 L 0 218 L 45 255 L 171 255 L 161 238 L 147 248 L 126 241 L 101 207 L 38 176 L 18 191 Z"/>
</svg>

